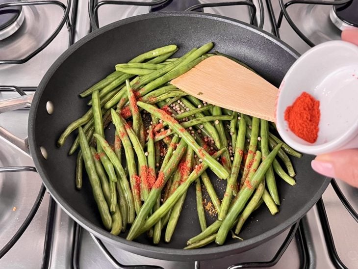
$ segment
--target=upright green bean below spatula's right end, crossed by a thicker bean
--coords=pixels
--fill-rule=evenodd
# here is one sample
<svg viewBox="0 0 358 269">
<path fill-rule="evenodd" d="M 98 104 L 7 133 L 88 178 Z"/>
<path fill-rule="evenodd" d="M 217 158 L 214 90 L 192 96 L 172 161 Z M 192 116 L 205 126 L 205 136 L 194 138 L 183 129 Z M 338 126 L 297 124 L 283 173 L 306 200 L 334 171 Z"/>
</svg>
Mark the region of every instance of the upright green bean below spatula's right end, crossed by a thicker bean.
<svg viewBox="0 0 358 269">
<path fill-rule="evenodd" d="M 261 119 L 260 136 L 261 136 L 262 159 L 265 159 L 270 152 L 268 149 L 268 122 L 263 119 Z M 272 165 L 265 174 L 265 180 L 266 180 L 267 188 L 270 191 L 270 195 L 272 196 L 272 199 L 274 199 L 275 204 L 280 205 L 279 192 L 277 191 L 276 180 L 275 180 L 275 175 Z"/>
</svg>

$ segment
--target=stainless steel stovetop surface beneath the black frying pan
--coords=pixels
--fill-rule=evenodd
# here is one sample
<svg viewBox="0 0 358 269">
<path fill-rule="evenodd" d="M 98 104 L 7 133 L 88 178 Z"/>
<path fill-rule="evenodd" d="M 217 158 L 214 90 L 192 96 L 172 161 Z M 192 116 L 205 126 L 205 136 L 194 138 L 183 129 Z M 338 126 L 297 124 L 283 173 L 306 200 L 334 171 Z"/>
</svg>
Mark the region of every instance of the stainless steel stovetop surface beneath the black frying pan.
<svg viewBox="0 0 358 269">
<path fill-rule="evenodd" d="M 15 89 L 22 94 L 35 90 L 53 61 L 68 48 L 69 44 L 97 27 L 96 14 L 89 12 L 88 9 L 90 7 L 93 10 L 97 2 L 90 1 L 50 0 L 46 5 L 32 5 L 36 3 L 33 1 L 23 2 L 26 4 L 22 7 L 24 22 L 13 35 L 0 40 L 0 100 L 17 96 Z M 3 2 L 6 0 L 0 1 L 0 7 Z M 148 3 L 151 0 L 135 2 Z M 181 8 L 187 8 L 199 1 L 173 2 L 177 2 Z M 210 4 L 223 1 L 200 2 Z M 276 22 L 280 17 L 280 2 L 287 2 L 286 0 L 252 2 L 256 6 L 255 24 L 259 26 L 260 18 L 264 18 L 263 29 L 276 35 L 278 33 L 284 42 L 299 53 L 307 51 L 309 46 L 293 30 L 288 23 L 290 20 L 307 37 L 308 43 L 318 44 L 339 38 L 340 30 L 330 19 L 332 5 L 293 4 L 285 9 L 289 16 L 288 20 L 283 16 L 278 27 Z M 129 16 L 149 12 L 148 6 L 105 3 L 100 5 L 102 6 L 98 9 L 97 16 L 100 27 Z M 205 7 L 204 12 L 245 22 L 249 22 L 251 15 L 247 5 Z M 1 14 L 0 9 L 0 24 Z M 53 40 L 48 42 L 48 46 L 42 46 L 53 32 L 56 33 Z M 44 49 L 24 63 L 4 64 L 4 60 L 26 59 L 39 47 Z M 6 129 L 18 137 L 25 138 L 27 117 L 28 109 L 0 114 L 0 134 L 7 134 L 4 130 Z M 30 156 L 0 137 L 0 166 L 7 167 L 0 170 L 9 171 L 11 169 L 8 166 L 18 165 L 26 167 L 16 168 L 21 170 L 17 172 L 0 173 L 0 268 L 95 269 L 126 268 L 130 265 L 158 265 L 165 269 L 358 268 L 358 190 L 339 181 L 332 182 L 322 200 L 299 223 L 271 241 L 224 259 L 194 264 L 154 260 L 116 249 L 107 243 L 104 245 L 96 240 L 79 228 L 53 202 L 49 193 L 42 187 L 41 178 L 37 173 L 27 171 L 27 166 L 33 166 Z M 25 232 L 23 223 L 28 223 Z"/>
</svg>

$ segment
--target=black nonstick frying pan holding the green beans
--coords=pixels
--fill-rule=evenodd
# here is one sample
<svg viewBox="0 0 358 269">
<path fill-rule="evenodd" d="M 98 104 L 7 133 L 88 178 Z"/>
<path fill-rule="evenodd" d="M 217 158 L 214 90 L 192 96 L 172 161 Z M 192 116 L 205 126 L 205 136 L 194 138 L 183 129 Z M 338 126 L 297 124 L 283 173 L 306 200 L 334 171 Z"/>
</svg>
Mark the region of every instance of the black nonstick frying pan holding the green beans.
<svg viewBox="0 0 358 269">
<path fill-rule="evenodd" d="M 162 241 L 155 246 L 146 235 L 128 242 L 126 234 L 113 236 L 103 228 L 88 180 L 84 179 L 81 191 L 75 189 L 76 156 L 67 153 L 76 134 L 72 134 L 63 147 L 56 146 L 67 125 L 88 109 L 88 100 L 78 94 L 113 72 L 116 63 L 127 62 L 137 54 L 177 44 L 179 52 L 175 56 L 180 56 L 209 41 L 215 43 L 215 50 L 243 61 L 276 86 L 298 57 L 293 49 L 272 35 L 239 21 L 196 12 L 151 13 L 115 22 L 79 40 L 53 63 L 38 86 L 28 120 L 28 143 L 37 171 L 57 203 L 82 227 L 105 242 L 164 260 L 198 261 L 232 255 L 287 229 L 307 213 L 326 189 L 329 179 L 310 169 L 312 156 L 291 158 L 297 184 L 288 186 L 277 177 L 280 213 L 272 216 L 261 206 L 240 234 L 244 241 L 232 239 L 229 234 L 223 246 L 212 243 L 202 249 L 182 249 L 187 239 L 200 233 L 194 188 L 188 190 L 170 243 Z M 53 104 L 52 114 L 46 109 L 48 101 Z M 106 131 L 109 141 L 113 141 L 113 129 Z M 41 148 L 47 151 L 47 160 Z M 210 177 L 222 197 L 226 182 L 216 180 L 212 173 Z M 207 217 L 209 224 L 214 221 L 213 217 Z"/>
</svg>

